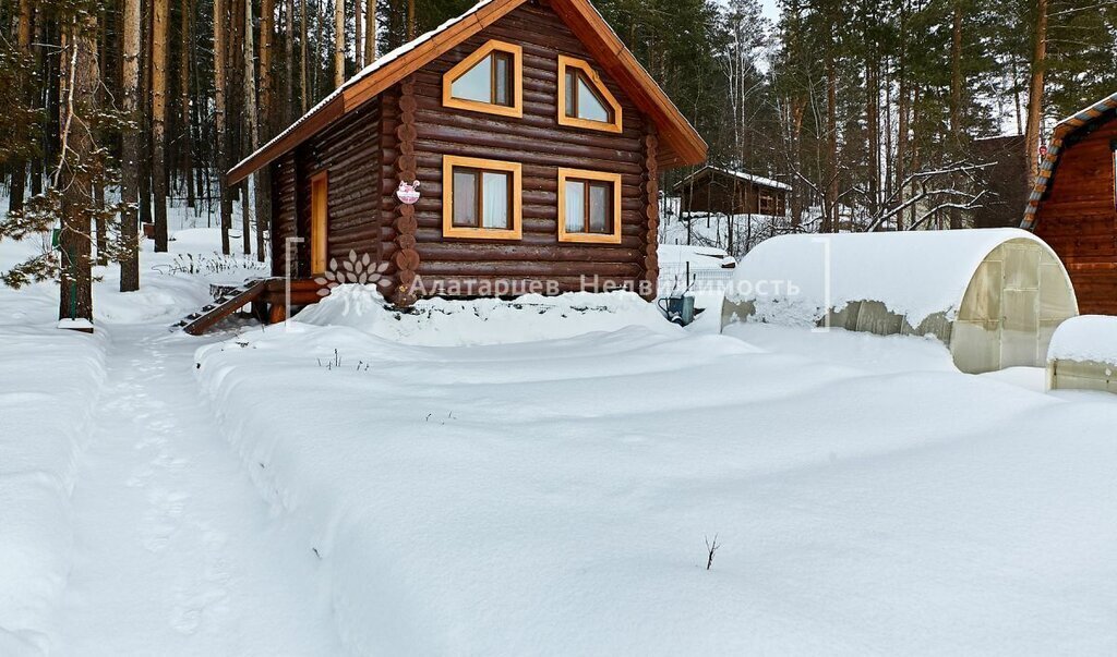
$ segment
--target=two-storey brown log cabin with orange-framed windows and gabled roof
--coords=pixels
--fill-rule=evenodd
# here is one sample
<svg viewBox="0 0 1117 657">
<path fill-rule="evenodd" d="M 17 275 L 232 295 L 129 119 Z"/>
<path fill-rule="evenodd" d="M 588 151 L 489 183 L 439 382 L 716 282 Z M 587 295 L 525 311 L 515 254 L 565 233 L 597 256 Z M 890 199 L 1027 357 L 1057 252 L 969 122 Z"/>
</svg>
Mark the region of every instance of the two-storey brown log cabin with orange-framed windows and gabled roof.
<svg viewBox="0 0 1117 657">
<path fill-rule="evenodd" d="M 705 156 L 590 2 L 487 0 L 364 68 L 228 177 L 267 167 L 273 276 L 289 262 L 293 306 L 351 252 L 401 307 L 594 277 L 653 298 L 659 173 Z M 267 299 L 284 317 L 281 294 Z"/>
</svg>

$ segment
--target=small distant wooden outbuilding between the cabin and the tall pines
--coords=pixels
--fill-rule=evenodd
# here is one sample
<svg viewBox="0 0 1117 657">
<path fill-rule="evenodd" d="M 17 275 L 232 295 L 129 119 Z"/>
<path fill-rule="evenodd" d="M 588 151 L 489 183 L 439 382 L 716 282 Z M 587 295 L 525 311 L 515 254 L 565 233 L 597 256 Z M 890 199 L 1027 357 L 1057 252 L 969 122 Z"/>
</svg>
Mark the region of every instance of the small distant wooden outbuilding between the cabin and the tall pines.
<svg viewBox="0 0 1117 657">
<path fill-rule="evenodd" d="M 685 213 L 734 216 L 787 212 L 791 185 L 744 171 L 707 165 L 675 185 Z"/>
</svg>

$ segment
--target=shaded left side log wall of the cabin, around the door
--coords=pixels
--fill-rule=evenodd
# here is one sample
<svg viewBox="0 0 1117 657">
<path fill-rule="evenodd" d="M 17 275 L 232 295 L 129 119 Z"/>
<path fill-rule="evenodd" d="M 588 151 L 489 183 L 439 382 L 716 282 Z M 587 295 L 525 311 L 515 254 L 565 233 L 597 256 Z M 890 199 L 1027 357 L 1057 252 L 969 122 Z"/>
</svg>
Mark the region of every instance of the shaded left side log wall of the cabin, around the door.
<svg viewBox="0 0 1117 657">
<path fill-rule="evenodd" d="M 373 259 L 381 254 L 381 120 L 380 102 L 337 122 L 271 165 L 276 185 L 276 220 L 273 272 L 283 274 L 287 238 L 306 240 L 311 225 L 311 176 L 327 172 L 327 225 L 330 258 L 338 261 L 353 251 Z M 309 271 L 309 243 L 297 254 L 295 276 Z"/>
</svg>

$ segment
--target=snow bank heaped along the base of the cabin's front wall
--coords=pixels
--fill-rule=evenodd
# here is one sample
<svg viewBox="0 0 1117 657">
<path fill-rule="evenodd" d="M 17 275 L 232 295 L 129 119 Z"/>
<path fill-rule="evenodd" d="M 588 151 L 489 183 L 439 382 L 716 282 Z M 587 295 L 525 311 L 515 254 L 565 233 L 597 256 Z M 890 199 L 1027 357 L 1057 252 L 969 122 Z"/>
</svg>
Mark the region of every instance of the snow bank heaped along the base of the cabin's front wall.
<svg viewBox="0 0 1117 657">
<path fill-rule="evenodd" d="M 346 284 L 299 312 L 297 321 L 347 326 L 405 345 L 456 347 L 569 338 L 641 326 L 671 334 L 677 327 L 632 292 L 525 294 L 500 299 L 423 299 L 409 311 L 385 306 L 375 286 Z"/>
</svg>

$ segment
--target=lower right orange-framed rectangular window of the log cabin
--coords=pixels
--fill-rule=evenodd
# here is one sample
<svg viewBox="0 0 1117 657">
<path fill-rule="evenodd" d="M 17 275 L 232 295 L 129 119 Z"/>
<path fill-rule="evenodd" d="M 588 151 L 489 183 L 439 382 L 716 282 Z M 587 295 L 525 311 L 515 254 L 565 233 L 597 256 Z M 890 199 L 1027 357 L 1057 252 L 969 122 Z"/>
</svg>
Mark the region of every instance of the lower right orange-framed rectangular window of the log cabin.
<svg viewBox="0 0 1117 657">
<path fill-rule="evenodd" d="M 558 170 L 560 242 L 620 243 L 620 174 Z"/>
</svg>

